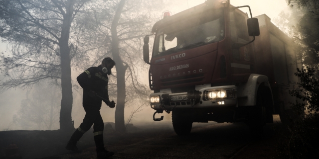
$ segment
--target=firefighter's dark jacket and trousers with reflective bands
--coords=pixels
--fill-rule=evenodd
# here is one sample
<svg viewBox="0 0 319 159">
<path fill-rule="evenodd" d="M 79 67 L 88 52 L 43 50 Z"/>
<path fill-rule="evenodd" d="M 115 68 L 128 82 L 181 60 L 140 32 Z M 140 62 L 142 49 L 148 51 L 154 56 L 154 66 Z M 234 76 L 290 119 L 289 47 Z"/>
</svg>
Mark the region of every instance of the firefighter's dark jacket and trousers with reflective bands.
<svg viewBox="0 0 319 159">
<path fill-rule="evenodd" d="M 102 99 L 90 94 L 94 91 L 104 99 L 109 100 L 108 76 L 102 71 L 101 65 L 91 67 L 77 77 L 77 81 L 83 88 L 83 107 L 86 112 L 80 127 L 73 133 L 70 142 L 77 142 L 82 135 L 93 126 L 94 141 L 97 149 L 104 149 L 103 129 L 104 123 L 100 114 Z M 107 101 L 104 101 L 107 102 Z"/>
</svg>

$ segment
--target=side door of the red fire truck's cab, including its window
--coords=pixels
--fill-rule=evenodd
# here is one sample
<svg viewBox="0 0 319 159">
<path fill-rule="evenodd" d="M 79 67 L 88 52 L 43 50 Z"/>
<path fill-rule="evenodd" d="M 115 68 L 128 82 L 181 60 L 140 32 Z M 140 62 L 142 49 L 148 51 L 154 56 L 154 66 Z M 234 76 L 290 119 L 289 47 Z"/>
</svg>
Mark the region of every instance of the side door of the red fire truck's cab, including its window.
<svg viewBox="0 0 319 159">
<path fill-rule="evenodd" d="M 230 12 L 231 45 L 251 41 L 247 29 L 247 15 L 237 9 Z M 235 81 L 245 81 L 254 69 L 253 44 L 231 50 L 231 72 Z"/>
</svg>

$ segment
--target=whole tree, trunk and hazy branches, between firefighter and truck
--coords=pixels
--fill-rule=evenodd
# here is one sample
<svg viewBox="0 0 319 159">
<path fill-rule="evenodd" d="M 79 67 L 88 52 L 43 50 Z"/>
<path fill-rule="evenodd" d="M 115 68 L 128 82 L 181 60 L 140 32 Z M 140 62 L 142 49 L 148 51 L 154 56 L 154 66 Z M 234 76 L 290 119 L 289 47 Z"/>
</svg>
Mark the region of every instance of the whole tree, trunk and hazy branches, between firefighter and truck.
<svg viewBox="0 0 319 159">
<path fill-rule="evenodd" d="M 148 68 L 142 60 L 143 37 L 150 34 L 152 25 L 160 18 L 155 16 L 155 7 L 160 9 L 161 4 L 161 0 L 97 0 L 94 9 L 86 14 L 90 15 L 89 20 L 83 20 L 92 29 L 87 35 L 92 38 L 94 34 L 90 39 L 96 45 L 94 64 L 108 56 L 116 62 L 116 82 L 111 87 L 117 89 L 115 129 L 118 132 L 125 132 L 126 102 L 133 103 L 136 97 L 147 99 L 150 94 L 149 87 L 139 79 L 139 71 Z"/>
</svg>

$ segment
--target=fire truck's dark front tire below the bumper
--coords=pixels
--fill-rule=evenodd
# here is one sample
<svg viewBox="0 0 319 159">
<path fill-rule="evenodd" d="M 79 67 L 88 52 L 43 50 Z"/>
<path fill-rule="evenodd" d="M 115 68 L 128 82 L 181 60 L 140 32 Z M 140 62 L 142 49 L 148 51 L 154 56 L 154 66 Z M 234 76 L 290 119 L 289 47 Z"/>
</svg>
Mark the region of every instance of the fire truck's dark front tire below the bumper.
<svg viewBox="0 0 319 159">
<path fill-rule="evenodd" d="M 178 136 L 188 135 L 193 122 L 187 120 L 180 110 L 173 110 L 171 113 L 173 128 Z"/>
</svg>

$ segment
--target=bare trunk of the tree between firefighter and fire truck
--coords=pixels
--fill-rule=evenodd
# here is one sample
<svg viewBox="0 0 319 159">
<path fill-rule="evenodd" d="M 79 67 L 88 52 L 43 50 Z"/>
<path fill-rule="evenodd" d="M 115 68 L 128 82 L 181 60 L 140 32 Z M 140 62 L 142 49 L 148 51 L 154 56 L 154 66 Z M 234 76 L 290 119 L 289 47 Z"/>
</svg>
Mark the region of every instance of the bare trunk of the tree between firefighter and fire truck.
<svg viewBox="0 0 319 159">
<path fill-rule="evenodd" d="M 121 13 L 124 7 L 126 0 L 121 0 L 118 9 L 114 15 L 114 19 L 112 21 L 111 26 L 111 34 L 112 34 L 112 57 L 116 62 L 116 75 L 117 75 L 117 104 L 115 110 L 115 130 L 117 132 L 124 133 L 125 132 L 125 121 L 124 121 L 124 108 L 125 108 L 125 98 L 126 98 L 126 85 L 125 85 L 125 72 L 128 66 L 123 65 L 123 61 L 119 54 L 119 37 L 117 32 L 117 27 L 119 23 L 119 19 L 121 17 Z"/>
</svg>

